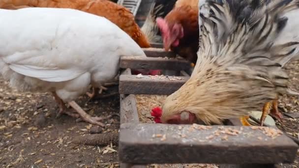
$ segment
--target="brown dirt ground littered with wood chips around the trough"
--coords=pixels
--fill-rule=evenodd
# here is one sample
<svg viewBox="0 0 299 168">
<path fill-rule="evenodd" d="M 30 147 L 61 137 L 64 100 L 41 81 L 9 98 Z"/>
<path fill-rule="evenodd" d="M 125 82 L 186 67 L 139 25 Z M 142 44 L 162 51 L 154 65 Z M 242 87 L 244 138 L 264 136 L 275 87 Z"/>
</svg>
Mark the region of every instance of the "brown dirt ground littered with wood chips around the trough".
<svg viewBox="0 0 299 168">
<path fill-rule="evenodd" d="M 286 66 L 291 87 L 299 90 L 299 61 Z M 117 92 L 110 87 L 104 93 Z M 92 115 L 107 116 L 119 112 L 119 96 L 88 101 L 82 96 L 76 101 Z M 294 118 L 284 116 L 277 126 L 299 138 L 299 100 L 291 96 L 280 97 L 279 109 Z M 77 145 L 72 141 L 90 130 L 117 132 L 119 117 L 104 120 L 105 130 L 63 115 L 56 118 L 58 106 L 48 93 L 20 93 L 0 79 L 0 167 L 2 168 L 117 168 L 117 144 L 94 147 Z M 299 168 L 299 153 L 293 164 L 284 168 Z M 162 167 L 161 167 L 162 168 Z"/>
</svg>

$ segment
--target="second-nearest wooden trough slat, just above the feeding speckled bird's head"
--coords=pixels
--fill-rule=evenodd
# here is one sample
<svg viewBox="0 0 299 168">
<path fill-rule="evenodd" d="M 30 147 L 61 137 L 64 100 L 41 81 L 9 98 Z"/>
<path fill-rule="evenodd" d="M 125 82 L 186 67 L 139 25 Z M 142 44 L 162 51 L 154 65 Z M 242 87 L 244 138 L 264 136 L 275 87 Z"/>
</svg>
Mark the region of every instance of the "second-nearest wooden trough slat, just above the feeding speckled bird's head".
<svg viewBox="0 0 299 168">
<path fill-rule="evenodd" d="M 164 79 L 159 79 L 164 78 Z M 120 94 L 161 94 L 170 95 L 179 89 L 189 78 L 179 77 L 166 78 L 143 76 L 137 78 L 136 75 L 120 75 L 119 92 Z M 171 81 L 170 79 L 174 79 Z"/>
</svg>

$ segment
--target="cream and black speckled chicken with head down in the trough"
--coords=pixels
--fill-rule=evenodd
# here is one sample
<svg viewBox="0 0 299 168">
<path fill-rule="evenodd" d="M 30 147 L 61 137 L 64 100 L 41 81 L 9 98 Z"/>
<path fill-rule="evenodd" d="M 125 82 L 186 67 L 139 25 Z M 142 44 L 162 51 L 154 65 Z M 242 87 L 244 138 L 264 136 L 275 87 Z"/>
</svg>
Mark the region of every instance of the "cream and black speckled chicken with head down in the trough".
<svg viewBox="0 0 299 168">
<path fill-rule="evenodd" d="M 288 88 L 282 66 L 298 56 L 299 0 L 206 0 L 190 79 L 167 97 L 163 123 L 190 124 L 263 112 Z"/>
</svg>

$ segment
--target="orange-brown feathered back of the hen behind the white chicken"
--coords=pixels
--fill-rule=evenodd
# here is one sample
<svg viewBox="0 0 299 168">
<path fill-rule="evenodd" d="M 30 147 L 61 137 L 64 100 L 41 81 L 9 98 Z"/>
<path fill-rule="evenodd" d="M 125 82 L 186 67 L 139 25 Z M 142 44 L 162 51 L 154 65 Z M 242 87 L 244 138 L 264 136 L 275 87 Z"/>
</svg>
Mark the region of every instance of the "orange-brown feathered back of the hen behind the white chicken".
<svg viewBox="0 0 299 168">
<path fill-rule="evenodd" d="M 141 47 L 149 48 L 146 35 L 134 20 L 133 14 L 125 7 L 110 0 L 6 0 L 0 1 L 0 8 L 19 9 L 24 7 L 54 7 L 82 10 L 105 17 L 125 31 Z"/>
</svg>

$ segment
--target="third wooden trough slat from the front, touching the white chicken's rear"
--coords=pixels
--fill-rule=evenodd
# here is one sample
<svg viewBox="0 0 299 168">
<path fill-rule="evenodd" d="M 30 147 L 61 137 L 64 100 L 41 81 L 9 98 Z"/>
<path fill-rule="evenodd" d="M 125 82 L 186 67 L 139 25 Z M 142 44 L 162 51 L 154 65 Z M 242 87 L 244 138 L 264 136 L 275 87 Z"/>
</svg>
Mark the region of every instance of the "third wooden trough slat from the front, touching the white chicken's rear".
<svg viewBox="0 0 299 168">
<path fill-rule="evenodd" d="M 188 69 L 189 67 L 190 62 L 185 59 L 142 56 L 122 56 L 120 58 L 120 68 L 167 69 L 180 71 Z"/>
</svg>

